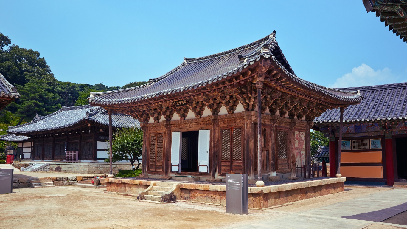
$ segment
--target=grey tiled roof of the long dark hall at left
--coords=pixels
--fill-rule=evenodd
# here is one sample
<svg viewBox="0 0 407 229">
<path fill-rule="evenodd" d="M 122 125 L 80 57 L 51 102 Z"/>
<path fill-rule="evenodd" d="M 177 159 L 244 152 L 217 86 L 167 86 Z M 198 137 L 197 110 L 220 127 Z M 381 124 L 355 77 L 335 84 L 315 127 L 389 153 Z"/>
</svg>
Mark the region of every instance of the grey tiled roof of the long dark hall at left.
<svg viewBox="0 0 407 229">
<path fill-rule="evenodd" d="M 7 133 L 9 134 L 33 134 L 46 132 L 50 130 L 61 130 L 75 126 L 81 121 L 92 120 L 96 123 L 109 125 L 109 114 L 101 107 L 90 105 L 65 107 L 57 110 L 45 117 L 35 119 L 29 123 L 19 126 L 10 126 Z M 127 114 L 112 114 L 112 126 L 114 127 L 140 127 L 137 119 L 133 119 Z"/>
</svg>

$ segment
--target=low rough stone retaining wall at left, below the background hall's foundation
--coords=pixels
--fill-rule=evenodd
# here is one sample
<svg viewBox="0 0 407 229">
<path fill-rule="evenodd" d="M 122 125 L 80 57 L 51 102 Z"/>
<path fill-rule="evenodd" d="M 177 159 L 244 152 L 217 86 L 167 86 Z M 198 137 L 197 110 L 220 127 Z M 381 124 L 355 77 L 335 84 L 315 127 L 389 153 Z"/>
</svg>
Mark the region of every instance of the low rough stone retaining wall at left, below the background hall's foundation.
<svg viewBox="0 0 407 229">
<path fill-rule="evenodd" d="M 29 177 L 29 178 L 13 178 L 13 188 L 29 188 L 30 181 L 35 180 L 51 180 L 55 186 L 64 186 L 76 184 L 79 181 L 91 181 L 95 176 L 103 177 L 104 174 L 96 174 L 92 176 L 53 176 L 53 177 Z M 105 179 L 100 179 L 101 185 L 105 185 Z"/>
</svg>

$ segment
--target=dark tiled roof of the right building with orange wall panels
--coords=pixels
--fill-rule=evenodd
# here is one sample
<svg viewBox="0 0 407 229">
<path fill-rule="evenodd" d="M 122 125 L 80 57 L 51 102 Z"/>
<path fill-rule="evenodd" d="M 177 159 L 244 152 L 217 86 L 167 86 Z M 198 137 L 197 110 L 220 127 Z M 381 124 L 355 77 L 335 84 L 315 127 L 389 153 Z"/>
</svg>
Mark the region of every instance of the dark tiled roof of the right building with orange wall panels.
<svg viewBox="0 0 407 229">
<path fill-rule="evenodd" d="M 356 88 L 338 88 L 352 91 Z M 344 122 L 407 120 L 407 83 L 358 87 L 364 99 L 344 110 Z M 339 108 L 327 110 L 313 121 L 339 122 Z"/>
</svg>

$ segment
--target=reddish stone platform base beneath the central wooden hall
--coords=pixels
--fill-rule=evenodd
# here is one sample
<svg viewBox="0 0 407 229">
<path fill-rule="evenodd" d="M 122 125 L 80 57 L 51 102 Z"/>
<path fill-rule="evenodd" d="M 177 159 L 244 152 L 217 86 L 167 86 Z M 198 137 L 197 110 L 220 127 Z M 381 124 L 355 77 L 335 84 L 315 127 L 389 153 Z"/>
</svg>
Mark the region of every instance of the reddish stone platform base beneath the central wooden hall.
<svg viewBox="0 0 407 229">
<path fill-rule="evenodd" d="M 298 180 L 297 180 L 298 181 Z M 249 208 L 267 209 L 277 205 L 283 205 L 298 200 L 309 199 L 318 196 L 344 191 L 346 178 L 325 178 L 313 181 L 303 181 L 271 185 L 265 187 L 249 187 Z M 168 185 L 166 181 L 135 180 L 106 178 L 106 191 L 108 193 L 137 196 L 139 192 L 152 186 Z M 171 182 L 175 184 L 175 182 Z M 180 192 L 176 194 L 176 200 L 184 200 L 198 203 L 211 203 L 226 205 L 226 186 L 222 183 L 182 183 L 179 184 Z"/>
</svg>

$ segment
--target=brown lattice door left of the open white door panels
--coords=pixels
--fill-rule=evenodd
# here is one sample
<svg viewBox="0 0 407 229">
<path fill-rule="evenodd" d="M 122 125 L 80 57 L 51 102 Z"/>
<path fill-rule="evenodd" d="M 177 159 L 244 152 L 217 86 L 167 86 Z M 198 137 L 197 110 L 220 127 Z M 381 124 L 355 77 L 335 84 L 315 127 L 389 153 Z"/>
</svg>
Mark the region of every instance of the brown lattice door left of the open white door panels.
<svg viewBox="0 0 407 229">
<path fill-rule="evenodd" d="M 150 172 L 163 171 L 164 134 L 150 135 Z"/>
</svg>

